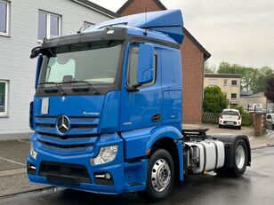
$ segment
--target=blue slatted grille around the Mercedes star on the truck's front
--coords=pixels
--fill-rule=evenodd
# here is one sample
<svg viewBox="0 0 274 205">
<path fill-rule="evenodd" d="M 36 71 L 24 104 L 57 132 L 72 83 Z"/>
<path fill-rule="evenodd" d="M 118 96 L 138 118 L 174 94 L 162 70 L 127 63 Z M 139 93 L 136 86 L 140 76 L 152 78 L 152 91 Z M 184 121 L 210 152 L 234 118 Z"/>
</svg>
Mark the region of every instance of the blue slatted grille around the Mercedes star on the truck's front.
<svg viewBox="0 0 274 205">
<path fill-rule="evenodd" d="M 36 116 L 37 144 L 42 150 L 54 154 L 85 154 L 93 151 L 99 137 L 99 117 L 69 116 L 69 132 L 60 135 L 56 129 L 59 116 Z"/>
</svg>

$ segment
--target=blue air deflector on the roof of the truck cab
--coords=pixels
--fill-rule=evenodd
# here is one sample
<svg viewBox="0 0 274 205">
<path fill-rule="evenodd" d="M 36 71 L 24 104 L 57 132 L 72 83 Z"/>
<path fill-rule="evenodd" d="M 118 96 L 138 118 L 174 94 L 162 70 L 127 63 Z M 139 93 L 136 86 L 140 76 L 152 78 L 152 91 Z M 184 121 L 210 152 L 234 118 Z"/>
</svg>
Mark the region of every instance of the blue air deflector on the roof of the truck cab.
<svg viewBox="0 0 274 205">
<path fill-rule="evenodd" d="M 165 10 L 160 12 L 133 14 L 115 20 L 102 22 L 93 28 L 85 30 L 85 32 L 91 32 L 109 26 L 149 28 L 151 30 L 159 31 L 165 35 L 169 35 L 177 43 L 181 44 L 183 40 L 183 20 L 181 10 Z"/>
</svg>

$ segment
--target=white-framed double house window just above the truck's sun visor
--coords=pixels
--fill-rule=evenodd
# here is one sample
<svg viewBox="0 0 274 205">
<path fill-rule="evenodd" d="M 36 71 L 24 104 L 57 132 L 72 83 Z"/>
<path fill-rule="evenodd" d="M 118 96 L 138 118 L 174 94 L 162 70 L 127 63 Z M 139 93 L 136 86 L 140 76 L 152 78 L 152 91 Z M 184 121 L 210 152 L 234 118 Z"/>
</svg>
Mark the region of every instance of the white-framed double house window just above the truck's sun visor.
<svg viewBox="0 0 274 205">
<path fill-rule="evenodd" d="M 43 40 L 44 37 L 60 35 L 60 15 L 51 12 L 38 12 L 38 40 Z"/>
</svg>

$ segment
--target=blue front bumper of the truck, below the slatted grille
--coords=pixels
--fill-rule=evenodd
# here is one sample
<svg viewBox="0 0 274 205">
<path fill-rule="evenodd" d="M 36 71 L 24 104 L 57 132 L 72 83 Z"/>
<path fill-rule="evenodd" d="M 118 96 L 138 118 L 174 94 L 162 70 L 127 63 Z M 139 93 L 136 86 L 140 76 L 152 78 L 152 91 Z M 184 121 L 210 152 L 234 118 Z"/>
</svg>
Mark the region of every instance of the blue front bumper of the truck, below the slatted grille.
<svg viewBox="0 0 274 205">
<path fill-rule="evenodd" d="M 32 137 L 31 140 L 35 140 L 35 137 Z M 38 156 L 36 160 L 28 156 L 27 166 L 30 182 L 108 194 L 136 192 L 145 189 L 148 160 L 124 162 L 123 139 L 117 136 L 100 137 L 91 154 L 57 154 L 42 149 L 36 143 L 34 145 Z M 93 166 L 90 159 L 97 156 L 100 147 L 111 145 L 118 145 L 115 160 Z M 50 166 L 52 166 L 51 169 L 49 169 Z M 83 170 L 81 173 L 76 171 L 81 169 Z M 84 173 L 85 177 L 83 177 Z M 109 179 L 100 177 L 106 173 L 110 175 Z"/>
</svg>

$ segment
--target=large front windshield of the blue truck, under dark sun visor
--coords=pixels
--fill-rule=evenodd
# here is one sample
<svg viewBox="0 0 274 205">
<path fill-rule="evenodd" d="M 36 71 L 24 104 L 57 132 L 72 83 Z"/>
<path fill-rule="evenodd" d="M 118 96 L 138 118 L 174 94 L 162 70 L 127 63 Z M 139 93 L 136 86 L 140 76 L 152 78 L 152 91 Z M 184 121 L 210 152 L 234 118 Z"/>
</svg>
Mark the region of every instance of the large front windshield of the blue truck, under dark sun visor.
<svg viewBox="0 0 274 205">
<path fill-rule="evenodd" d="M 49 51 L 51 55 L 44 55 L 38 83 L 115 83 L 121 44 L 91 46 L 86 43 Z"/>
</svg>

